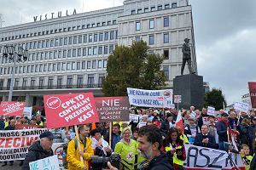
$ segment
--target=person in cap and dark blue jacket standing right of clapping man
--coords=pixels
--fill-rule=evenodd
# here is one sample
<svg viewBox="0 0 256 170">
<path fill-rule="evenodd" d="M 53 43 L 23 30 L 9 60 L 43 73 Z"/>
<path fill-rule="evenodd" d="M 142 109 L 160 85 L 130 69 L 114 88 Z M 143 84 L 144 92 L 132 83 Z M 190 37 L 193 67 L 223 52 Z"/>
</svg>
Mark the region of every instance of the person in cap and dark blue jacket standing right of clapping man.
<svg viewBox="0 0 256 170">
<path fill-rule="evenodd" d="M 229 127 L 229 115 L 227 113 L 223 113 L 221 115 L 221 120 L 216 122 L 216 128 L 218 133 L 218 150 L 228 150 L 226 143 L 228 140 L 228 127 Z"/>
</svg>

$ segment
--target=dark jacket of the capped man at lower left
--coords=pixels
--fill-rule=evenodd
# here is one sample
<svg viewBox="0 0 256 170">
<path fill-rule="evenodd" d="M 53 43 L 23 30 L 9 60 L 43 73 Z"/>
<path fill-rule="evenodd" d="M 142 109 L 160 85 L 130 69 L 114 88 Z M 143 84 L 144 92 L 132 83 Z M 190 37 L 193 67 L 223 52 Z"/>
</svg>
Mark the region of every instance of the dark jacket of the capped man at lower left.
<svg viewBox="0 0 256 170">
<path fill-rule="evenodd" d="M 29 162 L 38 161 L 39 159 L 44 159 L 45 157 L 53 155 L 53 150 L 44 150 L 43 147 L 40 145 L 40 141 L 36 141 L 29 147 L 28 153 L 26 155 L 26 158 L 21 169 L 29 170 Z"/>
</svg>

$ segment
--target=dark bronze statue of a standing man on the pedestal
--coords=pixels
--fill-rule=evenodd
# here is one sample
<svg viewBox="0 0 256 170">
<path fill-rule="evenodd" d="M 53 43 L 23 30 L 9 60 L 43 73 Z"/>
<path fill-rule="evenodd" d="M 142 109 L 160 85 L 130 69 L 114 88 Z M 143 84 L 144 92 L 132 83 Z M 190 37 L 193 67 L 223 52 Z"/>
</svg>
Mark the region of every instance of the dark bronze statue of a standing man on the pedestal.
<svg viewBox="0 0 256 170">
<path fill-rule="evenodd" d="M 184 67 L 186 65 L 186 62 L 188 62 L 189 65 L 189 74 L 194 73 L 192 71 L 191 67 L 191 52 L 190 52 L 190 47 L 189 47 L 189 38 L 185 38 L 183 43 L 183 65 L 181 68 L 181 75 L 183 75 Z"/>
</svg>

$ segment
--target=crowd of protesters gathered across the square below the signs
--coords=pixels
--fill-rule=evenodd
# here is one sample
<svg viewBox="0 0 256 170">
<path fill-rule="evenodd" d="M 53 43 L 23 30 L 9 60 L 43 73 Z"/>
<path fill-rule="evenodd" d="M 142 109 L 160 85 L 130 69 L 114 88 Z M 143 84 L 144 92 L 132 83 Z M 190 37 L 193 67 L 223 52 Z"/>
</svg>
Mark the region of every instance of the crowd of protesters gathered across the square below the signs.
<svg viewBox="0 0 256 170">
<path fill-rule="evenodd" d="M 73 127 L 49 129 L 49 133 L 40 136 L 37 145 L 33 144 L 30 147 L 26 160 L 20 161 L 20 166 L 23 166 L 22 169 L 29 169 L 28 162 L 34 161 L 38 148 L 41 152 L 45 151 L 44 143 L 50 145 L 54 142 L 67 144 L 68 169 L 90 169 L 91 156 L 110 156 L 114 152 L 121 156 L 123 169 L 154 169 L 155 165 L 152 161 L 154 157 L 158 157 L 154 161 L 162 160 L 162 167 L 157 168 L 164 170 L 172 167 L 174 170 L 180 170 L 184 169 L 183 161 L 186 159 L 184 144 L 229 151 L 233 138 L 239 148 L 235 152 L 240 153 L 247 169 L 250 169 L 250 166 L 252 170 L 256 169 L 256 158 L 253 157 L 256 152 L 256 115 L 253 110 L 248 113 L 220 110 L 216 115 L 207 115 L 207 108 L 202 108 L 200 111 L 191 106 L 190 110 L 180 112 L 183 129 L 176 126 L 179 111 L 175 108 L 165 110 L 131 108 L 131 113 L 139 115 L 139 120 L 137 122 L 113 122 L 111 136 L 109 135 L 109 122 L 96 123 L 96 127 L 91 124 L 79 126 L 79 136 L 73 135 Z M 0 116 L 0 130 L 14 130 L 17 124 L 46 127 L 46 123 L 44 116 L 39 115 L 31 119 Z M 156 132 L 160 139 L 151 139 L 154 136 L 150 135 L 157 134 L 146 132 L 147 128 L 148 131 L 157 129 Z M 145 144 L 149 143 L 143 141 L 143 138 L 152 144 L 150 145 L 152 153 L 146 148 Z M 48 143 L 44 141 L 45 139 Z M 157 144 L 152 143 L 153 141 Z M 80 143 L 79 149 L 78 143 Z M 33 153 L 30 153 L 32 151 Z M 47 151 L 45 156 L 52 154 L 50 150 Z M 80 161 L 80 157 L 83 157 L 84 161 Z M 10 166 L 13 164 L 14 161 L 9 161 Z M 8 162 L 4 161 L 2 167 L 6 165 Z M 111 165 L 109 167 L 114 169 Z"/>
</svg>

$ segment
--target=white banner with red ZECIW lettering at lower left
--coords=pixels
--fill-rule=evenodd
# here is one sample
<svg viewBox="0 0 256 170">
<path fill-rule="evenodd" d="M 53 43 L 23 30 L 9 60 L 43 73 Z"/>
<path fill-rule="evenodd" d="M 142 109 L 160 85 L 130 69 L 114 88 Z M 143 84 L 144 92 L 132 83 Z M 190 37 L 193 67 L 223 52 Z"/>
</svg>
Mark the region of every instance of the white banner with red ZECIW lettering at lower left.
<svg viewBox="0 0 256 170">
<path fill-rule="evenodd" d="M 46 128 L 0 131 L 0 161 L 24 160 L 28 148 Z"/>
</svg>

